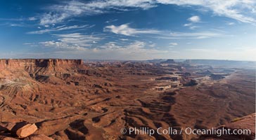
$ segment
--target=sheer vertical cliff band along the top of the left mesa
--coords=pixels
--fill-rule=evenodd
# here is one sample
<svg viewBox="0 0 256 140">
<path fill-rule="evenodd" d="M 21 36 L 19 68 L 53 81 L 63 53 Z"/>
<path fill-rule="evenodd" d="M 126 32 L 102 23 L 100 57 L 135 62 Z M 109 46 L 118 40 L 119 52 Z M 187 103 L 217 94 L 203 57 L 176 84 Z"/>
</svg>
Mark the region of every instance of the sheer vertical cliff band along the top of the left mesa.
<svg viewBox="0 0 256 140">
<path fill-rule="evenodd" d="M 0 59 L 0 69 L 23 69 L 26 66 L 72 66 L 82 64 L 82 59 Z"/>
</svg>

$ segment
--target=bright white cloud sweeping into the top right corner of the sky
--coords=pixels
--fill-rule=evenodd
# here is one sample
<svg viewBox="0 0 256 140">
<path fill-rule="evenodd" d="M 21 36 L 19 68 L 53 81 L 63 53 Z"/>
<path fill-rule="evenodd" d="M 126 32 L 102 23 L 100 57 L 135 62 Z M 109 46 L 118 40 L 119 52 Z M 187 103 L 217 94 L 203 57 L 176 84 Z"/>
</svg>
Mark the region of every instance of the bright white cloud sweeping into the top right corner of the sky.
<svg viewBox="0 0 256 140">
<path fill-rule="evenodd" d="M 158 0 L 158 2 L 178 6 L 201 6 L 207 10 L 212 10 L 215 15 L 233 18 L 240 22 L 256 22 L 255 18 L 252 17 L 256 6 L 256 1 L 253 0 Z"/>
</svg>

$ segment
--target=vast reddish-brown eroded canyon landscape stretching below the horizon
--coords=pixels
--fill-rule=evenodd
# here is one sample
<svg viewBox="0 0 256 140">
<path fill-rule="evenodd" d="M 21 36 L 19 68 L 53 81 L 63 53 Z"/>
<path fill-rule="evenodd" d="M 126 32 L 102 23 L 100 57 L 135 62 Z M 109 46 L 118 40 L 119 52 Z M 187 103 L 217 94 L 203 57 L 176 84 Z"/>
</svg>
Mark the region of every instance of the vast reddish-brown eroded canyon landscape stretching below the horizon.
<svg viewBox="0 0 256 140">
<path fill-rule="evenodd" d="M 0 59 L 0 71 L 0 126 L 35 124 L 37 130 L 26 139 L 203 139 L 120 130 L 210 129 L 255 113 L 252 68 L 172 59 Z M 19 139 L 8 131 L 0 135 Z"/>
</svg>

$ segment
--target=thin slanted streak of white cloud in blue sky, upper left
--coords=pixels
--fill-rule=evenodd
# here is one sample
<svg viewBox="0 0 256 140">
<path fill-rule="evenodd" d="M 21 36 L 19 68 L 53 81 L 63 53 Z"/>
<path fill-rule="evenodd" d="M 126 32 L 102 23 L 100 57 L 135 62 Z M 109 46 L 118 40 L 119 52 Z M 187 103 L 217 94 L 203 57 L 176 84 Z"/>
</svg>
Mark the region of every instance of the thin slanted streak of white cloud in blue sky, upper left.
<svg viewBox="0 0 256 140">
<path fill-rule="evenodd" d="M 84 28 L 84 27 L 88 27 L 89 25 L 83 25 L 83 26 L 78 26 L 78 25 L 73 25 L 73 26 L 68 26 L 65 27 L 65 25 L 60 26 L 60 27 L 56 27 L 56 28 L 51 28 L 51 29 L 42 29 L 39 31 L 30 31 L 27 32 L 27 34 L 44 34 L 44 33 L 48 33 L 51 31 L 62 31 L 62 30 L 67 30 L 67 29 L 80 29 L 80 28 Z"/>
</svg>

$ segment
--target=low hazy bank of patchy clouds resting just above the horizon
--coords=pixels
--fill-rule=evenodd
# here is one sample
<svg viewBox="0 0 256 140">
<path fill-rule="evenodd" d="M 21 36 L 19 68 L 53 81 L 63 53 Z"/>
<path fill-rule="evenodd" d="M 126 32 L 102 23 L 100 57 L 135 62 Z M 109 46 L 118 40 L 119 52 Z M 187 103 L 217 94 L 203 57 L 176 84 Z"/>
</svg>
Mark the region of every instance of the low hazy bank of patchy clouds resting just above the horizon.
<svg viewBox="0 0 256 140">
<path fill-rule="evenodd" d="M 147 48 L 148 43 L 143 41 L 131 41 L 126 44 L 110 41 L 96 48 L 84 48 L 75 44 L 67 44 L 62 41 L 40 42 L 45 48 L 51 49 L 51 53 L 44 57 L 65 56 L 82 59 L 153 59 L 159 55 L 167 55 L 167 50 Z M 159 57 L 160 58 L 160 57 Z"/>
</svg>

